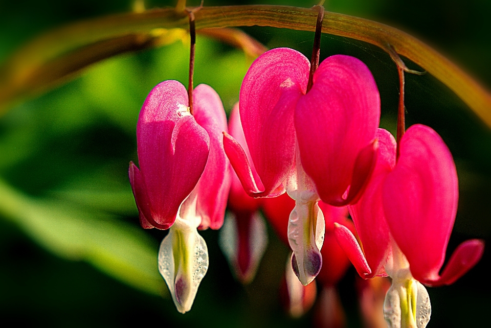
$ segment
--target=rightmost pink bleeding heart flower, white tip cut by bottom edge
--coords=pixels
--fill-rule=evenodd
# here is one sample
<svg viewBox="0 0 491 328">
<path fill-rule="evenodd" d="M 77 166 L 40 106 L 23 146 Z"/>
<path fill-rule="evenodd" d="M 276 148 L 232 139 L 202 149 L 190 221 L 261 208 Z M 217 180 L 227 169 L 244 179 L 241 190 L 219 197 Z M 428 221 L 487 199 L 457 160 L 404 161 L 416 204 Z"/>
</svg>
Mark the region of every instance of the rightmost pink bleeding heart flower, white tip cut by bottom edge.
<svg viewBox="0 0 491 328">
<path fill-rule="evenodd" d="M 360 201 L 348 206 L 363 251 L 352 233 L 335 228 L 341 247 L 364 278 L 392 277 L 384 303 L 389 327 L 425 327 L 431 305 L 427 286 L 450 285 L 481 258 L 484 244 L 468 240 L 440 274 L 457 212 L 457 171 L 441 137 L 423 125 L 400 140 L 379 129 L 378 160 Z"/>
</svg>

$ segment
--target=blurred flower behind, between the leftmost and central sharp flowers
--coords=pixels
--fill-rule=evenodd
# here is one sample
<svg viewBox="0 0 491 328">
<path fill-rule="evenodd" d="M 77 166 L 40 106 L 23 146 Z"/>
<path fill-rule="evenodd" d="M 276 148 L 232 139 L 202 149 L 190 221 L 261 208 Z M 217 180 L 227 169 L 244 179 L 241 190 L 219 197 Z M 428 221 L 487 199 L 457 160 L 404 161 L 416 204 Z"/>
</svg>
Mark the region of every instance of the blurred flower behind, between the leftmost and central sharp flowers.
<svg viewBox="0 0 491 328">
<path fill-rule="evenodd" d="M 238 104 L 230 114 L 229 132 L 248 152 L 240 124 Z M 241 283 L 248 284 L 254 278 L 266 249 L 266 224 L 259 213 L 261 199 L 246 194 L 239 178 L 233 170 L 231 171 L 229 212 L 220 230 L 219 242 L 235 276 Z"/>
</svg>

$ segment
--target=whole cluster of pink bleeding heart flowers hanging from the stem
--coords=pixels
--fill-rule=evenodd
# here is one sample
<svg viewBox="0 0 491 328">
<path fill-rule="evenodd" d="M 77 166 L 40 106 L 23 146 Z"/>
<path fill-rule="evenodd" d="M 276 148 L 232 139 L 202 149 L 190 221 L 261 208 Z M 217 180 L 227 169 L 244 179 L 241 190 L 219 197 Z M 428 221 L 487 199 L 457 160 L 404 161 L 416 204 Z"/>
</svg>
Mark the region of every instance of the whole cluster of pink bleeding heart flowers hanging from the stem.
<svg viewBox="0 0 491 328">
<path fill-rule="evenodd" d="M 177 81 L 149 93 L 137 126 L 140 170 L 130 163 L 129 178 L 141 225 L 170 229 L 159 270 L 177 310 L 188 311 L 208 268 L 197 229 L 222 226 L 230 192 L 235 215 L 222 248 L 242 280 L 264 250 L 255 215 L 262 207 L 292 248 L 289 267 L 302 285 L 320 272 L 335 284 L 349 259 L 362 278 L 392 278 L 384 303 L 390 327 L 425 327 L 431 307 L 421 284 L 452 284 L 484 248 L 462 243 L 440 275 L 457 210 L 452 155 L 434 130 L 414 125 L 396 156 L 394 137 L 378 128 L 380 96 L 360 60 L 325 59 L 307 91 L 309 69 L 292 49 L 261 55 L 229 126 L 207 85 L 195 88 L 192 113 Z"/>
</svg>

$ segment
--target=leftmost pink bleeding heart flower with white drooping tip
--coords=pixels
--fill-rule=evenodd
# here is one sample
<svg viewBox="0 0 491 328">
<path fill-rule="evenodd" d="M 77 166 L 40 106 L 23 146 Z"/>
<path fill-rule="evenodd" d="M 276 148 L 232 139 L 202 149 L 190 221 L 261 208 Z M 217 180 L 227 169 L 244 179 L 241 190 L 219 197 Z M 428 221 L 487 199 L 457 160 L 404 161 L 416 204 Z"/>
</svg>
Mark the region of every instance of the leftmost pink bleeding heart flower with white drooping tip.
<svg viewBox="0 0 491 328">
<path fill-rule="evenodd" d="M 140 170 L 130 162 L 129 180 L 144 228 L 169 229 L 159 250 L 159 270 L 177 310 L 189 311 L 208 269 L 208 250 L 197 228 L 223 222 L 230 188 L 221 132 L 227 119 L 207 85 L 193 92 L 177 81 L 155 86 L 137 125 Z"/>
</svg>

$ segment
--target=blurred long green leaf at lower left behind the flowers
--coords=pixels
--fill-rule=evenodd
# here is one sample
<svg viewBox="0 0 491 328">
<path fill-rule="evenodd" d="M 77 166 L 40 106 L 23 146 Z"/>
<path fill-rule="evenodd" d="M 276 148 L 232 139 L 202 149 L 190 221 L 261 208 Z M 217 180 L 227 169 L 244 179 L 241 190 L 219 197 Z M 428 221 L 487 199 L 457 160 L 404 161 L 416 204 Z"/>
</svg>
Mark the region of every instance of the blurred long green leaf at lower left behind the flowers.
<svg viewBox="0 0 491 328">
<path fill-rule="evenodd" d="M 87 261 L 147 293 L 167 293 L 157 269 L 158 245 L 136 227 L 94 211 L 29 198 L 2 180 L 0 213 L 59 256 Z"/>
</svg>

